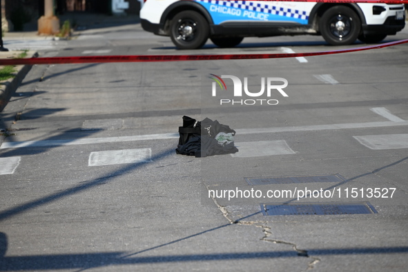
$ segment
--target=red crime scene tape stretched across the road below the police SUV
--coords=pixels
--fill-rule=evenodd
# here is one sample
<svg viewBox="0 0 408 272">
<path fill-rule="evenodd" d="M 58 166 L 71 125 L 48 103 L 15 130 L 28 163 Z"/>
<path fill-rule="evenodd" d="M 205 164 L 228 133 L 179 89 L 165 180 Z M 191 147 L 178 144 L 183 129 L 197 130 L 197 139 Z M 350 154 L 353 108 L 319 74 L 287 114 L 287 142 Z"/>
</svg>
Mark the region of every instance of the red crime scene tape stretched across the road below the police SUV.
<svg viewBox="0 0 408 272">
<path fill-rule="evenodd" d="M 359 48 L 331 50 L 307 53 L 282 53 L 282 54 L 211 54 L 211 55 L 129 55 L 129 56 L 59 56 L 52 58 L 32 59 L 0 59 L 0 65 L 35 65 L 35 64 L 69 64 L 69 63 L 136 63 L 136 62 L 164 62 L 164 61 L 213 61 L 232 59 L 280 59 L 295 58 L 299 56 L 322 56 L 359 52 L 365 50 L 387 48 L 394 45 L 408 43 L 408 39 L 391 41 L 378 45 L 369 45 Z"/>
</svg>

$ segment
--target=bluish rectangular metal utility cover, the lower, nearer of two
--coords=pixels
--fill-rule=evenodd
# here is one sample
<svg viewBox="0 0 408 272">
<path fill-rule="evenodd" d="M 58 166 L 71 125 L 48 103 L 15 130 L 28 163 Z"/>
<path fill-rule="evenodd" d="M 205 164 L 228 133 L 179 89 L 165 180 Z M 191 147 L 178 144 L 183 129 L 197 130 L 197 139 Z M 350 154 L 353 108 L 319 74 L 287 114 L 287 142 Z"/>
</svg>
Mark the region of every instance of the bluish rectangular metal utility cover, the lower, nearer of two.
<svg viewBox="0 0 408 272">
<path fill-rule="evenodd" d="M 264 216 L 325 216 L 377 213 L 369 202 L 263 203 Z"/>
</svg>

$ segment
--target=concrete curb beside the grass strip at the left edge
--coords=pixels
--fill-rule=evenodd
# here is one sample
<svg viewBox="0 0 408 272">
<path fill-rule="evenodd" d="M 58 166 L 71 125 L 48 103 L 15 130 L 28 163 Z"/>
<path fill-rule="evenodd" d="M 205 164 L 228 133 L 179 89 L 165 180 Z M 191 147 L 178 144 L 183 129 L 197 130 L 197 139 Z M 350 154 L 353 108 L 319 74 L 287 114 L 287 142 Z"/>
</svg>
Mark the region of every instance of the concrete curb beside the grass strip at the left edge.
<svg viewBox="0 0 408 272">
<path fill-rule="evenodd" d="M 36 58 L 38 56 L 37 52 L 28 52 L 28 58 Z M 15 67 L 15 74 L 14 78 L 8 79 L 7 81 L 3 81 L 0 83 L 0 112 L 8 104 L 11 96 L 16 92 L 17 88 L 26 77 L 28 72 L 30 72 L 32 65 L 17 65 Z"/>
</svg>

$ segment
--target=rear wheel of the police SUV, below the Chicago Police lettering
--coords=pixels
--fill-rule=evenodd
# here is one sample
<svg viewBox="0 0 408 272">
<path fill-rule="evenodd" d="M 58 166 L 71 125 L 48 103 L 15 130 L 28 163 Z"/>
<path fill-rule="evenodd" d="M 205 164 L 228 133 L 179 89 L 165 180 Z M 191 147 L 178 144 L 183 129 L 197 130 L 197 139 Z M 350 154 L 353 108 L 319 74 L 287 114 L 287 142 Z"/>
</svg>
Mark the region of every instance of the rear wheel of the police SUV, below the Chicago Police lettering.
<svg viewBox="0 0 408 272">
<path fill-rule="evenodd" d="M 179 49 L 202 48 L 209 34 L 208 22 L 198 12 L 192 10 L 179 12 L 171 21 L 171 41 Z"/>
</svg>

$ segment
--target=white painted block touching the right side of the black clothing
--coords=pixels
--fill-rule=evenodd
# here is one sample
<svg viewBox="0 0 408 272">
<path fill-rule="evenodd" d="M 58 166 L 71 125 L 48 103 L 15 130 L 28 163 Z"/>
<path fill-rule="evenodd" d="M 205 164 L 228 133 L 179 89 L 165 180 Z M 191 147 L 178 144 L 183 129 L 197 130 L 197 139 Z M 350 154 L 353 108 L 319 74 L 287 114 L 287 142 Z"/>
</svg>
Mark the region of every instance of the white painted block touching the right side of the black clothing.
<svg viewBox="0 0 408 272">
<path fill-rule="evenodd" d="M 234 158 L 250 158 L 260 156 L 275 156 L 295 154 L 285 140 L 260 140 L 258 142 L 237 143 L 235 146 L 239 150 L 231 154 Z"/>
</svg>

